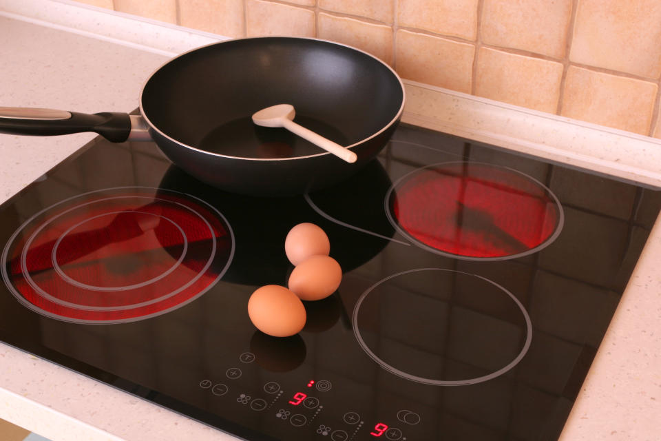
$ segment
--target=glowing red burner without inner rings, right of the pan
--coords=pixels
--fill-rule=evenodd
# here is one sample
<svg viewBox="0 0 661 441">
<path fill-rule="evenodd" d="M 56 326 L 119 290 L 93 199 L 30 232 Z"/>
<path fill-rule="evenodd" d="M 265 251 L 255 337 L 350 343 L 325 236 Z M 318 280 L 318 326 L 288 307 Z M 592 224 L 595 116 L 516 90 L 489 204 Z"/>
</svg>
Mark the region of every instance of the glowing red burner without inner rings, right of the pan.
<svg viewBox="0 0 661 441">
<path fill-rule="evenodd" d="M 390 218 L 414 243 L 459 258 L 515 258 L 551 243 L 563 212 L 543 184 L 481 163 L 431 165 L 390 192 Z"/>
</svg>

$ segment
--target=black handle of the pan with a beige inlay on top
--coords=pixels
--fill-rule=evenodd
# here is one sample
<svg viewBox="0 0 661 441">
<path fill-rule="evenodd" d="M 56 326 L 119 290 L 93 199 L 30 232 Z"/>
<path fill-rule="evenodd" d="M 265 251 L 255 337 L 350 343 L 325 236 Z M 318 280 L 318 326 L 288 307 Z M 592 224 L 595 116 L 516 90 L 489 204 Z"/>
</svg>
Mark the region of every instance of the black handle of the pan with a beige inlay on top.
<svg viewBox="0 0 661 441">
<path fill-rule="evenodd" d="M 123 143 L 131 133 L 131 118 L 127 113 L 0 107 L 0 133 L 52 136 L 80 132 L 96 132 L 108 141 Z"/>
</svg>

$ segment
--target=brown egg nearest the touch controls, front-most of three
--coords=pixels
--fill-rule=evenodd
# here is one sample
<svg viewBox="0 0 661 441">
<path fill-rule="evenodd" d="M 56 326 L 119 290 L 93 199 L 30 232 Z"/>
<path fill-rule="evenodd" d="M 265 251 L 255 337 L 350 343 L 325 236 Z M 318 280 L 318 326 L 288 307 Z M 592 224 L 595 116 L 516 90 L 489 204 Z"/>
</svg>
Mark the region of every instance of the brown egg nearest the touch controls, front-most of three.
<svg viewBox="0 0 661 441">
<path fill-rule="evenodd" d="M 300 298 L 285 287 L 266 285 L 250 296 L 248 316 L 264 334 L 288 337 L 305 326 L 305 308 Z"/>
</svg>

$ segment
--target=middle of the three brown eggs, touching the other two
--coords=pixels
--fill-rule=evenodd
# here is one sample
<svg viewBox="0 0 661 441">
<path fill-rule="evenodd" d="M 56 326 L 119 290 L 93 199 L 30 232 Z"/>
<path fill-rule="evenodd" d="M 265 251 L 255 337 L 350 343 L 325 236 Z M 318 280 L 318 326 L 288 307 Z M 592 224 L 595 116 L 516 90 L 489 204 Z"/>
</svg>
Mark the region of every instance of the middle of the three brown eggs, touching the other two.
<svg viewBox="0 0 661 441">
<path fill-rule="evenodd" d="M 333 294 L 342 281 L 342 268 L 328 256 L 311 256 L 289 276 L 289 289 L 302 300 L 321 300 Z"/>
</svg>

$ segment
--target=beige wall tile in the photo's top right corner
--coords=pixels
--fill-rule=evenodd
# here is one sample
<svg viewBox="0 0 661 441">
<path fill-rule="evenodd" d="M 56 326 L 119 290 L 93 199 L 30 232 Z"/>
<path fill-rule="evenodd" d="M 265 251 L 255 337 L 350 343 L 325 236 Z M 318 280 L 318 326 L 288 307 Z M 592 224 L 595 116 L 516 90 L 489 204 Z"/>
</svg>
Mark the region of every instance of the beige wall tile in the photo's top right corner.
<svg viewBox="0 0 661 441">
<path fill-rule="evenodd" d="M 660 1 L 580 0 L 570 59 L 658 79 L 660 42 Z"/>
</svg>

